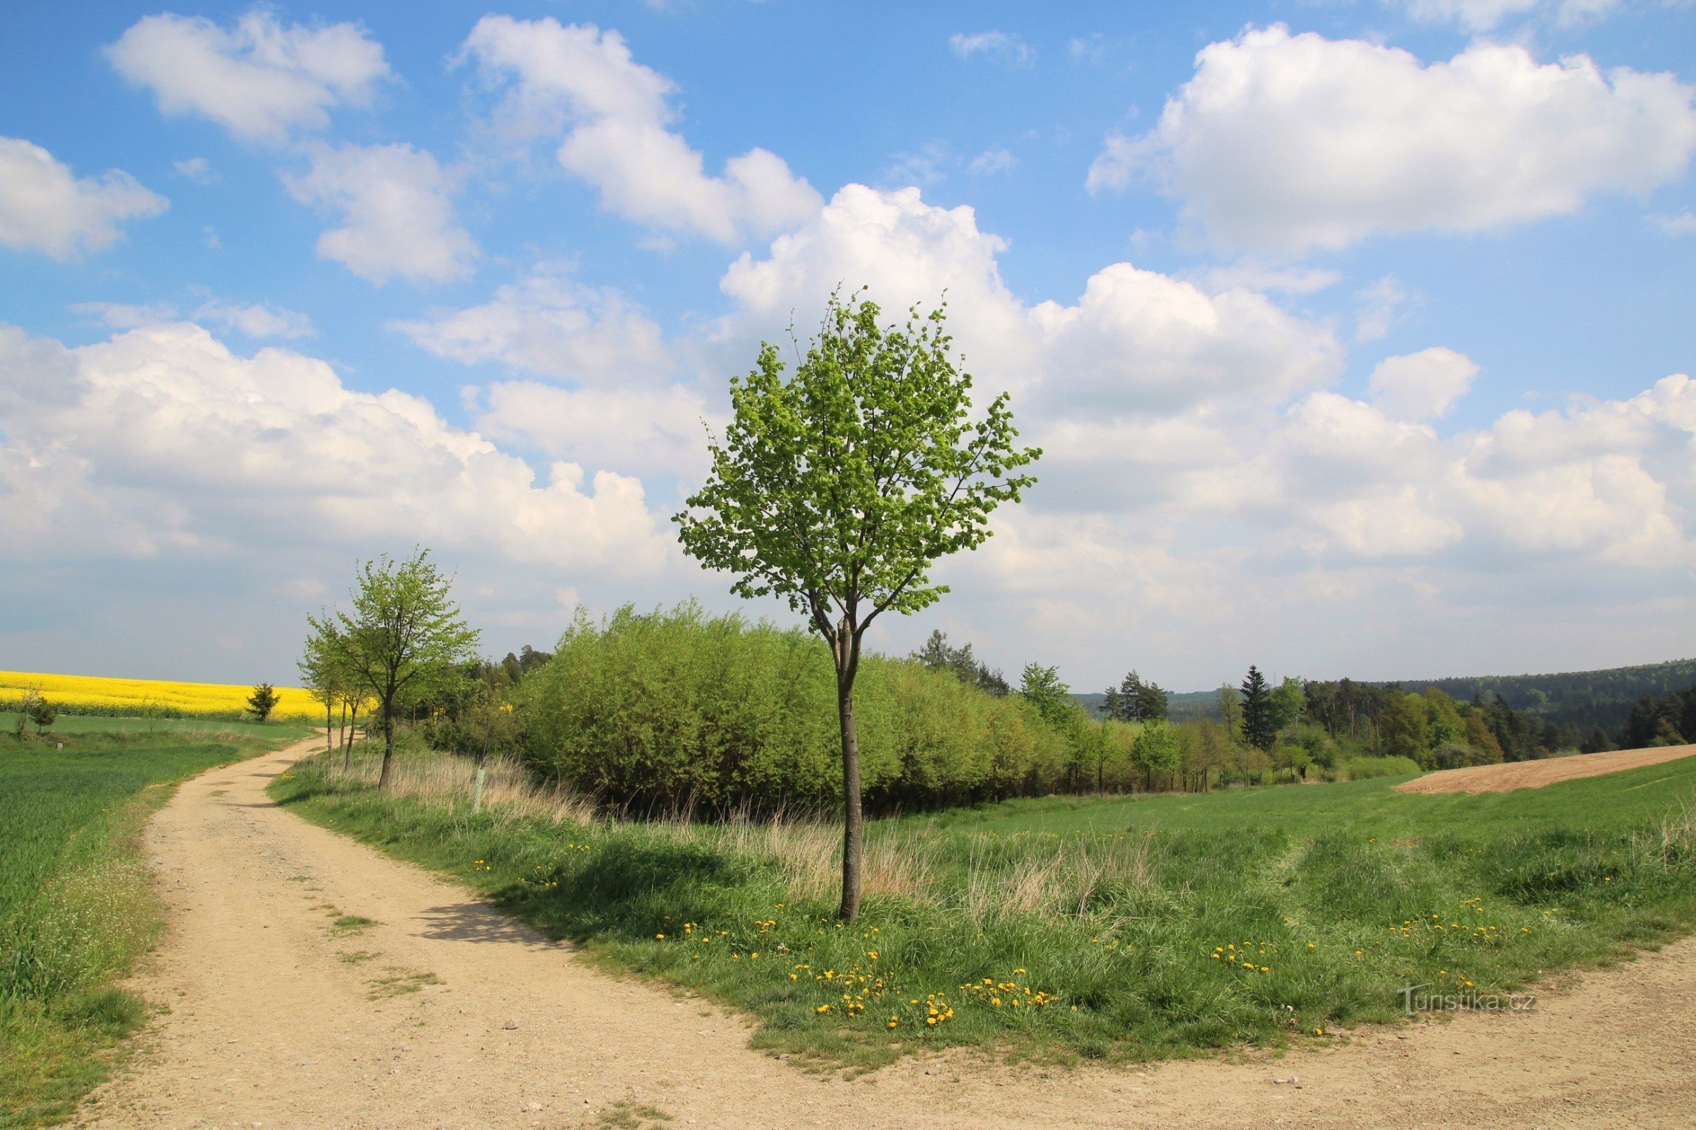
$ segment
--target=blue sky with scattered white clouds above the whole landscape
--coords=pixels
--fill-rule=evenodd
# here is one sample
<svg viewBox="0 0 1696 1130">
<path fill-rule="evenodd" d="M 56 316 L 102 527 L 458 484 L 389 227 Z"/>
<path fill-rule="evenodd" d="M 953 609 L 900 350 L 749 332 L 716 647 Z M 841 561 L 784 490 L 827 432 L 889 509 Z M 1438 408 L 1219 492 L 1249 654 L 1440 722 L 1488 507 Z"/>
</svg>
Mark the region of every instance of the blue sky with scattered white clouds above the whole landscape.
<svg viewBox="0 0 1696 1130">
<path fill-rule="evenodd" d="M 884 647 L 1179 690 L 1684 656 L 1691 20 L 8 5 L 0 666 L 287 679 L 414 542 L 495 652 L 733 607 L 667 515 L 838 281 L 946 286 L 1048 451 Z"/>
</svg>

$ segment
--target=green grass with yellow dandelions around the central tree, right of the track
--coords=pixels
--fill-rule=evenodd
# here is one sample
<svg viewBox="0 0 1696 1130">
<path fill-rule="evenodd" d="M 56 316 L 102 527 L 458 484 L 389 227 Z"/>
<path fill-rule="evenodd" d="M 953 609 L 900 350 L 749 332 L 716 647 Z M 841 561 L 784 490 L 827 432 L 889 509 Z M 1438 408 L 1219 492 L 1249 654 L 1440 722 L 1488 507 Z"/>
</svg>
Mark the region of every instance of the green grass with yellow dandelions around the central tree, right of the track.
<svg viewBox="0 0 1696 1130">
<path fill-rule="evenodd" d="M 514 771 L 471 815 L 470 773 L 416 754 L 385 800 L 361 754 L 273 791 L 841 1066 L 1328 1040 L 1396 1018 L 1406 984 L 1506 993 L 1696 922 L 1696 759 L 1487 796 L 1381 779 L 884 820 L 853 927 L 828 825 L 594 820 Z"/>
</svg>

